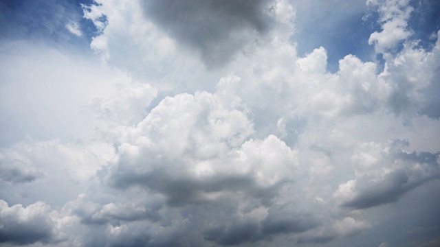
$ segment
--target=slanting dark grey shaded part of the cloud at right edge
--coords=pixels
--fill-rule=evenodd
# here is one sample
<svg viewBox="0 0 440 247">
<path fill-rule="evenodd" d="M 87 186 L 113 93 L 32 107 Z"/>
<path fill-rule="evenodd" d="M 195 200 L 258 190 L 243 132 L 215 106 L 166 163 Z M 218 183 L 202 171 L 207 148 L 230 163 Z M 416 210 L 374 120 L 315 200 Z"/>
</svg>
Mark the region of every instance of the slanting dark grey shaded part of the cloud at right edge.
<svg viewBox="0 0 440 247">
<path fill-rule="evenodd" d="M 408 141 L 391 143 L 389 151 L 383 152 L 377 161 L 382 167 L 359 169 L 355 180 L 354 195 L 344 202 L 344 207 L 367 209 L 390 202 L 397 202 L 408 191 L 440 177 L 439 153 L 405 152 Z M 387 168 L 389 167 L 389 168 Z M 375 169 L 391 169 L 391 172 L 371 176 Z"/>
</svg>

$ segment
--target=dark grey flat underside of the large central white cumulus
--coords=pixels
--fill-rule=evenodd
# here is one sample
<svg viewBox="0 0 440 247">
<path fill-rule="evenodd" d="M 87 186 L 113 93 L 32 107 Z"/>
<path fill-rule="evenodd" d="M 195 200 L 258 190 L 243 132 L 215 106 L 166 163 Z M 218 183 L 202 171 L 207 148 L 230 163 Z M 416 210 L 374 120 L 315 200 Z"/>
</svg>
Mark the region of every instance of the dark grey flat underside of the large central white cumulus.
<svg viewBox="0 0 440 247">
<path fill-rule="evenodd" d="M 244 175 L 219 174 L 212 178 L 197 179 L 189 176 L 176 176 L 174 172 L 168 172 L 165 169 L 157 169 L 146 174 L 135 173 L 126 171 L 121 166 L 118 170 L 111 172 L 109 178 L 110 185 L 115 188 L 127 189 L 138 185 L 162 193 L 166 196 L 168 205 L 173 207 L 206 202 L 203 193 L 219 191 L 245 191 L 249 196 L 260 198 L 263 204 L 269 205 L 285 182 L 287 181 L 281 181 L 270 187 L 261 187 L 252 177 Z"/>
</svg>

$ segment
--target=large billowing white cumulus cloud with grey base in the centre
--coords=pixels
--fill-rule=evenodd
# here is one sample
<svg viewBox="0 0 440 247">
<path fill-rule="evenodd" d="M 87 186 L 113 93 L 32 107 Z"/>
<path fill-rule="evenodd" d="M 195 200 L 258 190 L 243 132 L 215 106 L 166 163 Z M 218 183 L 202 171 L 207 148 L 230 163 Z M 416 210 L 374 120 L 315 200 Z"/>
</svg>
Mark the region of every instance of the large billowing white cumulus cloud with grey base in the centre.
<svg viewBox="0 0 440 247">
<path fill-rule="evenodd" d="M 140 185 L 164 193 L 176 205 L 223 191 L 273 198 L 276 188 L 291 179 L 295 152 L 273 135 L 245 141 L 253 132 L 245 106 L 217 97 L 199 92 L 163 99 L 133 129 L 133 143 L 118 147 L 108 183 L 122 189 Z"/>
</svg>

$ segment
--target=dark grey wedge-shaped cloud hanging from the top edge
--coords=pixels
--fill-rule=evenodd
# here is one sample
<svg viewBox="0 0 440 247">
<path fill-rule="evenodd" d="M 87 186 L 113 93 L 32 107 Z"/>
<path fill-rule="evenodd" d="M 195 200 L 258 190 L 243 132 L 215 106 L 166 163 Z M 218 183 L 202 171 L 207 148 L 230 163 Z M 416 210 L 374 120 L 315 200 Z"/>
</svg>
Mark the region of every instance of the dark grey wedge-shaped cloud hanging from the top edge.
<svg viewBox="0 0 440 247">
<path fill-rule="evenodd" d="M 200 52 L 208 67 L 228 62 L 254 33 L 265 34 L 274 24 L 272 1 L 144 1 L 148 19 L 177 41 Z"/>
</svg>

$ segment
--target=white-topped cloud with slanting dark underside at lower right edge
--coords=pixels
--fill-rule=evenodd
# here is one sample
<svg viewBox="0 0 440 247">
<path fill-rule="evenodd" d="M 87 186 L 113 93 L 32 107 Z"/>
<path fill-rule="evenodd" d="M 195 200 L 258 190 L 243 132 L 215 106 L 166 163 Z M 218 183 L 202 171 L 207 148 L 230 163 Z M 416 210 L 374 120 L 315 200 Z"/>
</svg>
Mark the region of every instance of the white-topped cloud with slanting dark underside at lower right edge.
<svg viewBox="0 0 440 247">
<path fill-rule="evenodd" d="M 363 143 L 351 157 L 356 178 L 341 184 L 334 196 L 344 207 L 366 209 L 397 202 L 405 193 L 440 176 L 439 153 L 406 152 L 397 140 L 380 145 Z"/>
</svg>

